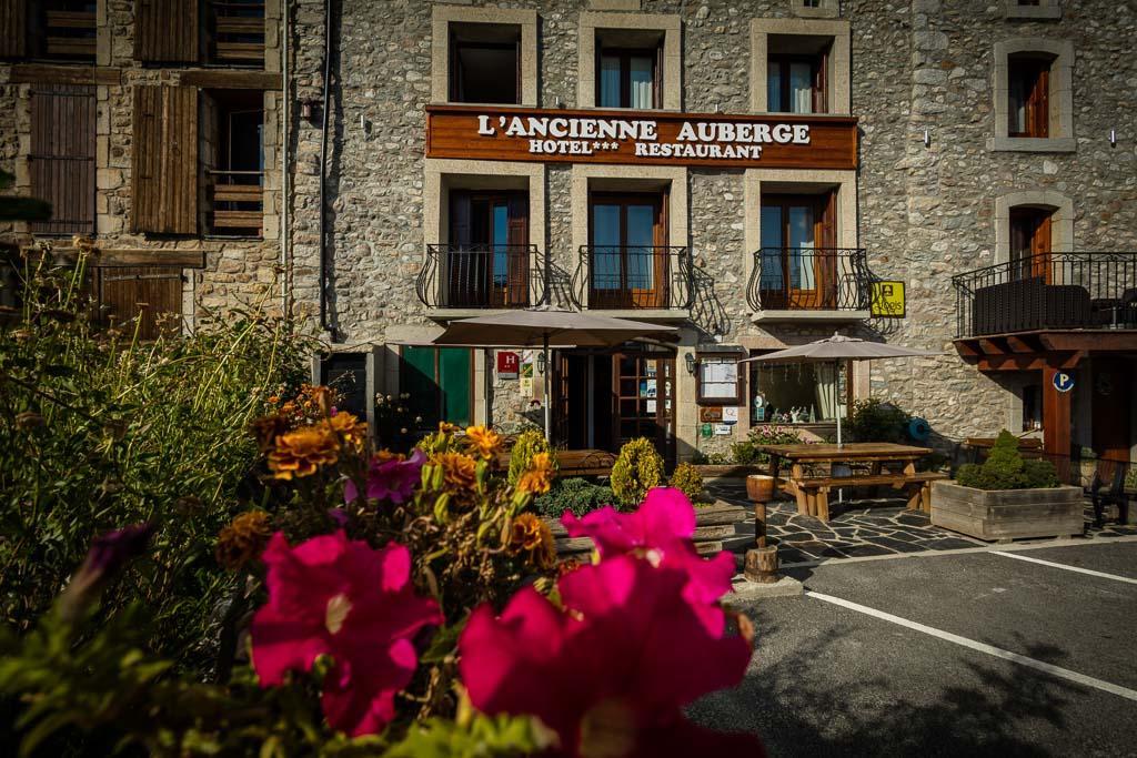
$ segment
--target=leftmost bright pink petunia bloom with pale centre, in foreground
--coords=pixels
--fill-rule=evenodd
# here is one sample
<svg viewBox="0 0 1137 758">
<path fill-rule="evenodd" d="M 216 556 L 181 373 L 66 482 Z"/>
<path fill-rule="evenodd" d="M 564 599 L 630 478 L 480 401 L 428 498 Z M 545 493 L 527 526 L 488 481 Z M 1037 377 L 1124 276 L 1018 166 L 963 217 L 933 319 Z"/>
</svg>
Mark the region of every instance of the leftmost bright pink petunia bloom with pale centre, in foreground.
<svg viewBox="0 0 1137 758">
<path fill-rule="evenodd" d="M 381 731 L 418 663 L 410 639 L 442 622 L 438 603 L 414 593 L 410 552 L 395 543 L 374 550 L 342 531 L 292 548 L 277 532 L 263 560 L 268 602 L 250 627 L 262 686 L 331 656 L 322 699 L 327 723 L 352 736 Z"/>
</svg>

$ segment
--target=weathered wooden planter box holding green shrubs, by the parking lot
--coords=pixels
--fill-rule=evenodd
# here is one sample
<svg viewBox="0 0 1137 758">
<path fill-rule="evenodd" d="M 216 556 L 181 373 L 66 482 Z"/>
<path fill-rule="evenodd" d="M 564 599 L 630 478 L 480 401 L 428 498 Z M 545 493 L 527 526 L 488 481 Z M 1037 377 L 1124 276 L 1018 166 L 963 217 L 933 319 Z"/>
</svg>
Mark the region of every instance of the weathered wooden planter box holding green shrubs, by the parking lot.
<svg viewBox="0 0 1137 758">
<path fill-rule="evenodd" d="M 932 482 L 931 523 L 979 540 L 1081 534 L 1082 491 L 976 490 L 954 481 Z"/>
</svg>

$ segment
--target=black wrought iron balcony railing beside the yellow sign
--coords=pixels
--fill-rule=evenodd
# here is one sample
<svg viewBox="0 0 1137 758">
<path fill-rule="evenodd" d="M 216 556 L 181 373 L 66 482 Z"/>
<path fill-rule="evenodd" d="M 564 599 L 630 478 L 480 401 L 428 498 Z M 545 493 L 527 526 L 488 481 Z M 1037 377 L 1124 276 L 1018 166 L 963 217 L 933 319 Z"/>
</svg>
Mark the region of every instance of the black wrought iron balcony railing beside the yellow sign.
<svg viewBox="0 0 1137 758">
<path fill-rule="evenodd" d="M 761 248 L 746 299 L 754 310 L 869 310 L 875 278 L 861 248 Z"/>
</svg>

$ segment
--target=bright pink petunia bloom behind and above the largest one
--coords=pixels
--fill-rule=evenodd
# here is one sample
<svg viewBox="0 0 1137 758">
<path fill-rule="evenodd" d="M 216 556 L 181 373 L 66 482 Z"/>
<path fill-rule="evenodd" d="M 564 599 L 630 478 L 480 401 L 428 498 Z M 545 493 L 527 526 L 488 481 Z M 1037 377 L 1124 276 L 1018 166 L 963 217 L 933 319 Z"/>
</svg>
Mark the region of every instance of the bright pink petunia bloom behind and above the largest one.
<svg viewBox="0 0 1137 758">
<path fill-rule="evenodd" d="M 583 518 L 565 511 L 561 517 L 570 536 L 588 536 L 601 559 L 620 555 L 644 557 L 653 566 L 669 566 L 684 572 L 688 582 L 683 597 L 692 603 L 711 606 L 730 591 L 735 557 L 720 552 L 707 560 L 695 550 L 695 508 L 681 490 L 671 486 L 648 491 L 639 509 L 620 514 L 600 508 Z M 700 611 L 713 630 L 722 632 L 724 617 L 717 609 Z"/>
</svg>

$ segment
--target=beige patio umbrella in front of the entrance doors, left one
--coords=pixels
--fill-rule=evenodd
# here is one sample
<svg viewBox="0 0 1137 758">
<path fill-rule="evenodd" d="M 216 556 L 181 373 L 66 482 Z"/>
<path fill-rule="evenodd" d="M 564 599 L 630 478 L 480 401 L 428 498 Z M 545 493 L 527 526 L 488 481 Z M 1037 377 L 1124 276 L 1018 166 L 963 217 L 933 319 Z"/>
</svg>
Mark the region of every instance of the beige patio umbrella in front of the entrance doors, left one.
<svg viewBox="0 0 1137 758">
<path fill-rule="evenodd" d="M 471 347 L 537 347 L 545 355 L 546 373 L 550 347 L 608 347 L 639 338 L 665 336 L 674 326 L 612 318 L 575 310 L 526 308 L 492 316 L 476 316 L 451 322 L 434 344 Z M 549 381 L 545 384 L 545 436 L 551 436 Z"/>
</svg>

